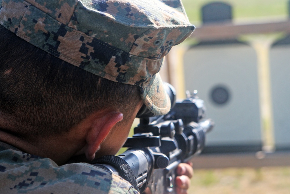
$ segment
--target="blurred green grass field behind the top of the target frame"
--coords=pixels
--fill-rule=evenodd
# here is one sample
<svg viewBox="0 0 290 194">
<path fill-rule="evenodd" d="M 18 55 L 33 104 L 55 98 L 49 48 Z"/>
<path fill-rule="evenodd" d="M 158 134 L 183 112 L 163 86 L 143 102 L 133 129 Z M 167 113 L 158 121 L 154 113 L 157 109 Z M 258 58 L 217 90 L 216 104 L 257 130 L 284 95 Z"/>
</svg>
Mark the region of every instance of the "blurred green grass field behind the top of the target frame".
<svg viewBox="0 0 290 194">
<path fill-rule="evenodd" d="M 257 17 L 287 17 L 289 0 L 227 0 L 233 7 L 233 19 Z M 210 0 L 183 0 L 189 20 L 195 24 L 201 20 L 200 10 Z"/>
</svg>

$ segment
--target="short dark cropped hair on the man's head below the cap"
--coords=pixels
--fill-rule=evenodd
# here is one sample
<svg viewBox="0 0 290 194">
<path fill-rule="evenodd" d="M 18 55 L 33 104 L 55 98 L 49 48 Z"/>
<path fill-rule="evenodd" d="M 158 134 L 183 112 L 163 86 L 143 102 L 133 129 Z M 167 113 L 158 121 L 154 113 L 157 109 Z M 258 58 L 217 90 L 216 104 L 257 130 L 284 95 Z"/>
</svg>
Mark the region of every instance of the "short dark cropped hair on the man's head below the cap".
<svg viewBox="0 0 290 194">
<path fill-rule="evenodd" d="M 0 25 L 0 112 L 23 138 L 68 132 L 96 110 L 132 112 L 137 86 L 109 81 L 31 45 Z M 7 118 L 6 118 L 7 120 Z"/>
</svg>

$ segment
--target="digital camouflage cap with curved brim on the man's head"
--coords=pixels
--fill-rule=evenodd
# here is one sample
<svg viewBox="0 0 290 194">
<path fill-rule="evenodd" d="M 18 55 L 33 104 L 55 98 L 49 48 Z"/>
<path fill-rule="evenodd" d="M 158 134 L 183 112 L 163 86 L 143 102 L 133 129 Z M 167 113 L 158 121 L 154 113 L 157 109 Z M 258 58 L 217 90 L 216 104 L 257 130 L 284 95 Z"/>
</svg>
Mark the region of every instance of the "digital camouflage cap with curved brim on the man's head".
<svg viewBox="0 0 290 194">
<path fill-rule="evenodd" d="M 171 106 L 158 74 L 164 56 L 194 30 L 179 0 L 0 0 L 0 24 L 88 72 L 139 86 L 157 115 Z"/>
</svg>

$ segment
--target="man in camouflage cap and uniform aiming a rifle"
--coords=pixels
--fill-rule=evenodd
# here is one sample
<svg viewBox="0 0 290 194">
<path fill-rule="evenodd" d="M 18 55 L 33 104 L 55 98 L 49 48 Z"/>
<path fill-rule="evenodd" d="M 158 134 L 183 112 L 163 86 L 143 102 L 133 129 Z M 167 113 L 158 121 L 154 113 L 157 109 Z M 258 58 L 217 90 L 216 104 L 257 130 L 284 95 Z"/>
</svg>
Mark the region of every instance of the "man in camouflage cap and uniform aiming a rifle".
<svg viewBox="0 0 290 194">
<path fill-rule="evenodd" d="M 181 2 L 0 0 L 0 24 L 0 192 L 137 193 L 65 163 L 116 154 L 142 104 L 170 110 L 158 71 L 194 30 Z M 192 169 L 178 171 L 186 192 Z"/>
</svg>

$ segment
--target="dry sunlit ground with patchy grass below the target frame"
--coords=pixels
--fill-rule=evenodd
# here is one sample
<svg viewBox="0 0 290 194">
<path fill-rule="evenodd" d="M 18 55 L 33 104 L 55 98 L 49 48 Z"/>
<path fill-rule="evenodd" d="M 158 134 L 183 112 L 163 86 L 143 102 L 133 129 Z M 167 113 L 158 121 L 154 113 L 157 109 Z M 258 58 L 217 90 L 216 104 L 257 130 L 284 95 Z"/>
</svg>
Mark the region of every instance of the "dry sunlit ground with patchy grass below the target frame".
<svg viewBox="0 0 290 194">
<path fill-rule="evenodd" d="M 290 167 L 195 170 L 191 194 L 289 194 Z"/>
</svg>

